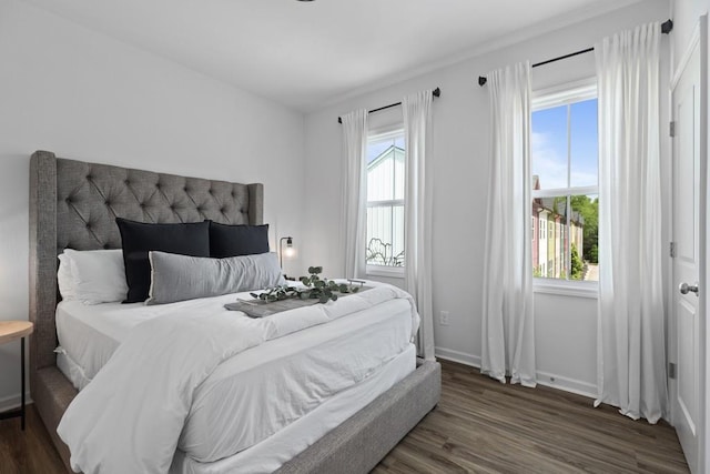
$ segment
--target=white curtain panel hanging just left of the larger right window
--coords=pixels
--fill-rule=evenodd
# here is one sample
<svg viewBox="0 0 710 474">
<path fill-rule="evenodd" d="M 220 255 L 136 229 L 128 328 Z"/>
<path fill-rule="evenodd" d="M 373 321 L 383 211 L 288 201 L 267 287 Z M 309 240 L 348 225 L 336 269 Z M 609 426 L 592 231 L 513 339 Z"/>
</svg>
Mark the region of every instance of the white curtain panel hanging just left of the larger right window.
<svg viewBox="0 0 710 474">
<path fill-rule="evenodd" d="M 480 371 L 536 385 L 530 244 L 530 65 L 488 73 L 490 184 Z"/>
</svg>

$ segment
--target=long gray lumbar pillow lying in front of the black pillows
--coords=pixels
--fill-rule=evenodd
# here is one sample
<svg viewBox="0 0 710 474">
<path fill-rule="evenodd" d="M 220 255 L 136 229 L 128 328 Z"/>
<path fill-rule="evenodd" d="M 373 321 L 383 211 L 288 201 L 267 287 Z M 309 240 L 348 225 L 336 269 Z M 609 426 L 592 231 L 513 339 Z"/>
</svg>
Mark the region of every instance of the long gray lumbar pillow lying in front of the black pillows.
<svg viewBox="0 0 710 474">
<path fill-rule="evenodd" d="M 145 304 L 261 290 L 284 284 L 275 253 L 211 259 L 149 252 L 151 288 Z"/>
</svg>

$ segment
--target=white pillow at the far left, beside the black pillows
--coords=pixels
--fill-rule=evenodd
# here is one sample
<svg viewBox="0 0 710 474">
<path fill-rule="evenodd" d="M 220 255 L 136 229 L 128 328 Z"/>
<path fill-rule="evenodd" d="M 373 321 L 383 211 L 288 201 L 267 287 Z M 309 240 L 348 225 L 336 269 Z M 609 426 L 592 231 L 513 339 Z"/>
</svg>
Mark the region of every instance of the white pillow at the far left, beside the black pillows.
<svg viewBox="0 0 710 474">
<path fill-rule="evenodd" d="M 64 250 L 64 259 L 69 262 L 71 280 L 70 299 L 84 304 L 111 303 L 125 300 L 129 288 L 125 283 L 123 252 L 119 250 Z M 62 271 L 60 264 L 60 272 Z M 59 273 L 57 279 L 60 279 Z M 67 285 L 64 285 L 67 286 Z M 73 292 L 72 292 L 73 286 Z M 61 292 L 60 285 L 60 292 Z M 62 297 L 64 293 L 62 292 Z"/>
</svg>

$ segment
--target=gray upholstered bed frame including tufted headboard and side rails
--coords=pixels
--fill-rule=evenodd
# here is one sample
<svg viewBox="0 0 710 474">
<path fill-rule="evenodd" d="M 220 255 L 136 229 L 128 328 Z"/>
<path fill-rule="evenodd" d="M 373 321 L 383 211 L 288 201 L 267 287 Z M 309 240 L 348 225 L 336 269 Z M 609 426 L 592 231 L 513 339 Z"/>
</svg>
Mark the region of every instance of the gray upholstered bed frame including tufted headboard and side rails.
<svg viewBox="0 0 710 474">
<path fill-rule="evenodd" d="M 40 417 L 67 468 L 69 450 L 57 435 L 77 395 L 57 367 L 54 313 L 59 300 L 57 255 L 120 249 L 115 218 L 141 222 L 263 223 L 262 184 L 184 178 L 57 158 L 30 160 L 30 390 Z M 364 473 L 372 470 L 437 403 L 440 366 L 417 370 L 325 434 L 280 473 Z"/>
</svg>

